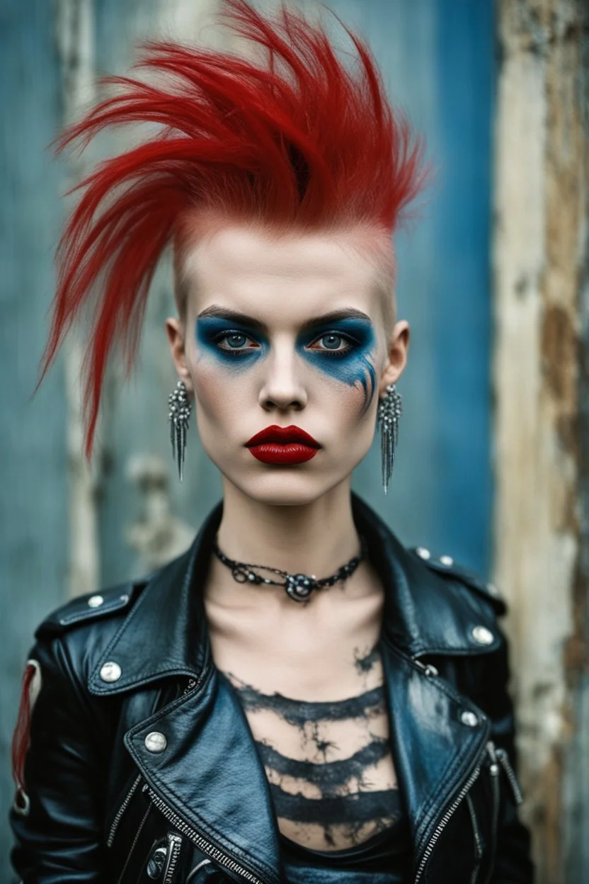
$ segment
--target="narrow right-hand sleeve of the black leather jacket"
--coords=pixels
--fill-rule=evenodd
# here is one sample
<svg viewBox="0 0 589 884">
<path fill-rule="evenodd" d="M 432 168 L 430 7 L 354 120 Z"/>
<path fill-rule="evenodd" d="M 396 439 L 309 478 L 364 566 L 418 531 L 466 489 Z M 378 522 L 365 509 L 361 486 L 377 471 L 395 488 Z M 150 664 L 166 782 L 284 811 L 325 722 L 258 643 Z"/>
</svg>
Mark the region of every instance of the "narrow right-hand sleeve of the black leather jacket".
<svg viewBox="0 0 589 884">
<path fill-rule="evenodd" d="M 507 639 L 497 625 L 501 646 L 487 658 L 481 708 L 491 718 L 490 739 L 495 743 L 504 788 L 497 826 L 495 870 L 490 884 L 533 884 L 530 833 L 519 819 L 515 718 L 509 692 L 510 663 Z"/>
</svg>

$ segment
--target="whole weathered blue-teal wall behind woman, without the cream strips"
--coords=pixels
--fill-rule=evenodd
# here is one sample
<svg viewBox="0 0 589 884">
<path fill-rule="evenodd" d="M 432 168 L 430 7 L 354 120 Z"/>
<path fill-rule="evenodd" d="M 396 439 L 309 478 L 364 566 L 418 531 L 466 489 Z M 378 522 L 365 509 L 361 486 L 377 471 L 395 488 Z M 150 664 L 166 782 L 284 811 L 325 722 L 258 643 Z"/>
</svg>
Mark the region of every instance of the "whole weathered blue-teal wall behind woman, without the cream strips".
<svg viewBox="0 0 589 884">
<path fill-rule="evenodd" d="M 431 545 L 487 572 L 490 530 L 489 167 L 494 25 L 491 0 L 331 0 L 365 32 L 396 103 L 427 136 L 436 165 L 421 219 L 397 237 L 399 314 L 412 325 L 399 389 L 404 416 L 393 484 L 384 498 L 378 439 L 354 487 L 408 544 Z M 96 65 L 123 70 L 129 43 L 149 30 L 156 0 L 96 2 Z M 53 291 L 52 250 L 63 168 L 46 145 L 60 118 L 52 4 L 4 0 L 0 9 L 0 880 L 10 880 L 8 745 L 34 626 L 64 597 L 66 512 L 63 372 L 58 362 L 33 402 Z M 137 514 L 126 477 L 132 454 L 170 462 L 166 398 L 174 383 L 163 332 L 171 309 L 156 279 L 132 384 L 111 385 L 103 429 L 102 580 L 136 568 L 125 530 Z M 195 431 L 176 512 L 195 528 L 220 482 Z"/>
</svg>

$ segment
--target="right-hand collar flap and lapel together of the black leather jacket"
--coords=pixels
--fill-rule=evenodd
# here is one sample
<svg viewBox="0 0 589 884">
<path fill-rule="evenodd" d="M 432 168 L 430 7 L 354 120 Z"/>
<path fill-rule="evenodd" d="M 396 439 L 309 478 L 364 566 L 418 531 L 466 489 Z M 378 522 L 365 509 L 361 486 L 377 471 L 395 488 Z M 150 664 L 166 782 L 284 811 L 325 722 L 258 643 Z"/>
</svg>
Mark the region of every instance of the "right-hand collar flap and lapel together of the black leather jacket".
<svg viewBox="0 0 589 884">
<path fill-rule="evenodd" d="M 419 859 L 476 768 L 490 731 L 487 715 L 419 659 L 493 652 L 500 637 L 491 614 L 471 591 L 427 568 L 370 507 L 355 496 L 352 501 L 385 592 L 381 653 L 391 744 Z M 484 648 L 472 638 L 477 624 L 494 635 Z M 475 726 L 462 719 L 469 712 L 476 716 Z"/>
</svg>

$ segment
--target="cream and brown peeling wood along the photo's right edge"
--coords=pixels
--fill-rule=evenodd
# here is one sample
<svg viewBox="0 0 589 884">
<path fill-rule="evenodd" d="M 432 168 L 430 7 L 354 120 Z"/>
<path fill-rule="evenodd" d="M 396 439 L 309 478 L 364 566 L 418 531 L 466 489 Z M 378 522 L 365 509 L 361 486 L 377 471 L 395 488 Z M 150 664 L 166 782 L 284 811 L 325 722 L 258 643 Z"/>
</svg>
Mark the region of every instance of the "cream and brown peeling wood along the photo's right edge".
<svg viewBox="0 0 589 884">
<path fill-rule="evenodd" d="M 495 582 L 510 599 L 538 884 L 589 880 L 585 352 L 589 11 L 502 0 L 495 133 Z M 584 97 L 585 95 L 585 97 Z M 586 546 L 586 542 L 585 542 Z M 566 877 L 565 877 L 566 875 Z"/>
</svg>

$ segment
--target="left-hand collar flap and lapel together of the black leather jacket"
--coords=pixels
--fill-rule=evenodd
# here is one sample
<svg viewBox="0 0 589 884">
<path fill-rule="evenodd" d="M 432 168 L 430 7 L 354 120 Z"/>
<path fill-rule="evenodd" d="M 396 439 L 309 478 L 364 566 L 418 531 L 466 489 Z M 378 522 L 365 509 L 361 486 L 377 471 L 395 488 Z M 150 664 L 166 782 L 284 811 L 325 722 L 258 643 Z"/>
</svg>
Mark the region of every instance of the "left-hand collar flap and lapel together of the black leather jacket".
<svg viewBox="0 0 589 884">
<path fill-rule="evenodd" d="M 219 503 L 190 550 L 147 579 L 88 687 L 103 696 L 165 676 L 196 681 L 194 690 L 131 728 L 125 746 L 171 811 L 257 879 L 277 884 L 278 834 L 268 781 L 235 692 L 213 665 L 202 604 L 222 515 Z M 121 669 L 116 682 L 102 680 L 108 661 Z M 154 731 L 165 736 L 165 751 L 147 749 L 146 736 Z"/>
</svg>

